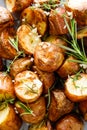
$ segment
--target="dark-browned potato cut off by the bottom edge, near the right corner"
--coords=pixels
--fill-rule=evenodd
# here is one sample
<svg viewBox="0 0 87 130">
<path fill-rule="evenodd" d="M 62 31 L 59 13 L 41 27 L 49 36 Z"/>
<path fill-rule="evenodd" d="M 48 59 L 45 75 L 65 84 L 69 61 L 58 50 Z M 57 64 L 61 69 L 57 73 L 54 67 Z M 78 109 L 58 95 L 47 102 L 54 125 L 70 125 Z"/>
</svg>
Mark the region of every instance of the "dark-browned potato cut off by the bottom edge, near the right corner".
<svg viewBox="0 0 87 130">
<path fill-rule="evenodd" d="M 57 122 L 56 130 L 84 130 L 83 121 L 74 114 L 69 114 Z"/>
</svg>

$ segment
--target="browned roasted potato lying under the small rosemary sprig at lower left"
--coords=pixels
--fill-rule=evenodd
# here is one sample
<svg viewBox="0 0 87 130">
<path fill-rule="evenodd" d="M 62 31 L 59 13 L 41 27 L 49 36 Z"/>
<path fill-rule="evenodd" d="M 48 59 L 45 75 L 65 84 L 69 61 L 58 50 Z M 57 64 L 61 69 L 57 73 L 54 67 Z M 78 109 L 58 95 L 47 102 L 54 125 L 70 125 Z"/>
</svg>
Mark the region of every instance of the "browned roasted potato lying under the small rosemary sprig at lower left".
<svg viewBox="0 0 87 130">
<path fill-rule="evenodd" d="M 46 114 L 46 104 L 44 97 L 40 97 L 37 101 L 27 104 L 27 107 L 33 111 L 33 114 L 27 114 L 26 111 L 20 107 L 18 102 L 15 105 L 18 112 L 21 114 L 21 118 L 28 123 L 39 123 L 44 119 L 44 116 Z"/>
</svg>

